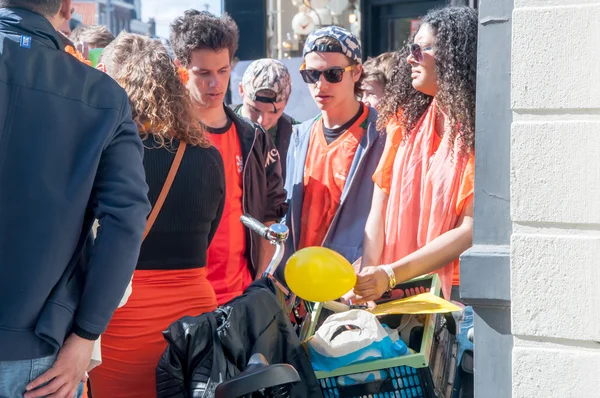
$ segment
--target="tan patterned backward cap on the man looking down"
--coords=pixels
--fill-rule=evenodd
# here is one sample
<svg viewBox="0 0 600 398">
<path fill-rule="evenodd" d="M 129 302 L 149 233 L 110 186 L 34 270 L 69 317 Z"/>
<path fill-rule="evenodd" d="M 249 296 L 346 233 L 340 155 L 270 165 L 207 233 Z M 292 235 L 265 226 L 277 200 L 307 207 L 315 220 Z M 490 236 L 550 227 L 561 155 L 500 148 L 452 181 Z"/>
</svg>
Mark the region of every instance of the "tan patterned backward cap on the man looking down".
<svg viewBox="0 0 600 398">
<path fill-rule="evenodd" d="M 292 92 L 292 79 L 284 64 L 276 59 L 263 58 L 252 62 L 242 77 L 244 95 L 252 101 L 276 103 L 287 101 Z M 275 93 L 275 98 L 257 95 L 261 90 Z"/>
</svg>

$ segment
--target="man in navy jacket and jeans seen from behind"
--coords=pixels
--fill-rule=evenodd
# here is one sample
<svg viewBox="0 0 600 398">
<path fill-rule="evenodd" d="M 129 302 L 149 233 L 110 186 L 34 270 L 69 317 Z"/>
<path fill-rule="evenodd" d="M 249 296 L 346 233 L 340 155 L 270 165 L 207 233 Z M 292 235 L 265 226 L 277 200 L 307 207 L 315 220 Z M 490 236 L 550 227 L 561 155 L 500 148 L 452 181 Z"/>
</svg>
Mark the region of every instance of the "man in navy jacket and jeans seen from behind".
<svg viewBox="0 0 600 398">
<path fill-rule="evenodd" d="M 1 397 L 75 396 L 150 211 L 127 96 L 64 51 L 70 10 L 0 0 Z"/>
</svg>

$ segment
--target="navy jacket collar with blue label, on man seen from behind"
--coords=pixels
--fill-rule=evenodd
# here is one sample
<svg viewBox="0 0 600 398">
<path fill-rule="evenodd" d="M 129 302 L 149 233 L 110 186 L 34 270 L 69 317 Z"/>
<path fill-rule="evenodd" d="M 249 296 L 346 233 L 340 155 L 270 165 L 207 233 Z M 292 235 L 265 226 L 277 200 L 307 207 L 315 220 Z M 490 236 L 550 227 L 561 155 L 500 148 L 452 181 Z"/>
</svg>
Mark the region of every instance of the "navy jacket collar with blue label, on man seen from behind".
<svg viewBox="0 0 600 398">
<path fill-rule="evenodd" d="M 0 31 L 26 34 L 46 47 L 64 50 L 63 40 L 50 21 L 24 8 L 0 8 Z"/>
</svg>

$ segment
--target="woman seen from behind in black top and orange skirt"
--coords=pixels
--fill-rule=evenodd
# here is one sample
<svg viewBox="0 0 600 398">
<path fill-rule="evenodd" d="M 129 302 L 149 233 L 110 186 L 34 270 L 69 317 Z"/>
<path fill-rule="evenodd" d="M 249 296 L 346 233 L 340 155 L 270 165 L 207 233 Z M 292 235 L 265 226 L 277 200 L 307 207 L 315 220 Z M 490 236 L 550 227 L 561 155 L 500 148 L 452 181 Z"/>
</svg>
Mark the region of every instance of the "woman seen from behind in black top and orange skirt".
<svg viewBox="0 0 600 398">
<path fill-rule="evenodd" d="M 159 41 L 121 34 L 100 63 L 129 96 L 153 209 L 183 154 L 149 232 L 146 227 L 132 294 L 102 335 L 102 364 L 90 374 L 94 398 L 155 397 L 155 369 L 167 346 L 162 331 L 217 307 L 205 266 L 223 212 L 223 160 L 194 119 L 189 93 Z"/>
</svg>

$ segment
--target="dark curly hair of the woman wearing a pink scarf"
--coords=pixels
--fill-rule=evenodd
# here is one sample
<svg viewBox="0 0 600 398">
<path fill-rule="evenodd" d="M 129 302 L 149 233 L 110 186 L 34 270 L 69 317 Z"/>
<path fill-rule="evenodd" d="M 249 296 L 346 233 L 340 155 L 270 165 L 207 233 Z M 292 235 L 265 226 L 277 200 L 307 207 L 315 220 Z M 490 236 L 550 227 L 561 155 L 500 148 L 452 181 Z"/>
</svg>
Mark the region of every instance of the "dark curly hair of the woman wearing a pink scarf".
<svg viewBox="0 0 600 398">
<path fill-rule="evenodd" d="M 436 101 L 446 112 L 450 142 L 458 140 L 463 155 L 475 148 L 475 90 L 477 76 L 477 11 L 470 7 L 445 7 L 429 12 L 422 25 L 435 36 Z M 408 49 L 403 50 L 408 55 Z M 380 104 L 378 126 L 395 117 L 405 138 L 423 116 L 433 97 L 412 87 L 411 67 L 404 60 L 394 70 Z"/>
</svg>

